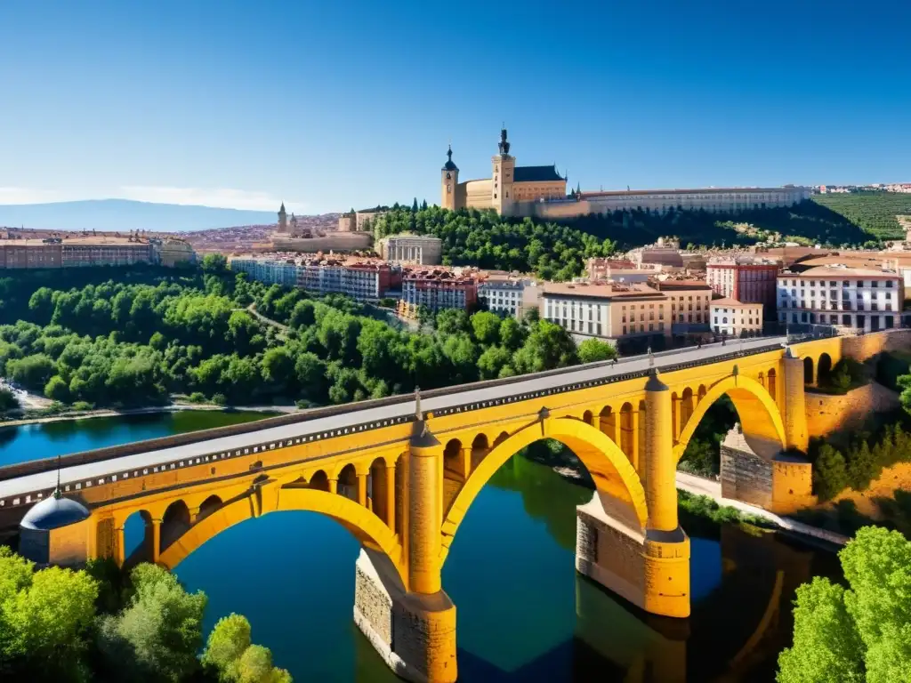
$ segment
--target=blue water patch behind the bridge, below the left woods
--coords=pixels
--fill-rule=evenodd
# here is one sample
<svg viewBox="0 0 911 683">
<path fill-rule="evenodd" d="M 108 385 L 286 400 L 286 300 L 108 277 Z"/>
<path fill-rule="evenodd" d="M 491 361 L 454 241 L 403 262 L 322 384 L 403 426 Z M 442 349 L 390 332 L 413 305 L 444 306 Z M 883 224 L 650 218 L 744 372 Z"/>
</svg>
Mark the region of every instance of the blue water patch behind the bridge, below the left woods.
<svg viewBox="0 0 911 683">
<path fill-rule="evenodd" d="M 56 423 L 0 426 L 0 466 L 54 458 L 93 448 L 195 432 L 226 424 L 261 420 L 270 413 L 241 411 L 177 411 L 118 417 L 93 417 Z"/>
</svg>

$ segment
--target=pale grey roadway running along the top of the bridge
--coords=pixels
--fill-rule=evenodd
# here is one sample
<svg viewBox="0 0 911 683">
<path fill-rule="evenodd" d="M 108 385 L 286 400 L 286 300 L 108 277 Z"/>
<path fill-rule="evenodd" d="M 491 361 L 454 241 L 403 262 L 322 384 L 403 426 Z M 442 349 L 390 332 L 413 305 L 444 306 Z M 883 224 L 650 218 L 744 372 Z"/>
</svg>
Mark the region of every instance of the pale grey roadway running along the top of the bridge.
<svg viewBox="0 0 911 683">
<path fill-rule="evenodd" d="M 736 357 L 768 352 L 775 348 L 782 348 L 787 343 L 787 338 L 763 337 L 752 340 L 732 340 L 730 343 L 708 344 L 701 348 L 688 348 L 659 352 L 653 355 L 654 367 L 662 372 L 670 372 L 681 366 L 711 363 L 722 357 Z M 592 362 L 582 366 L 563 368 L 556 371 L 537 372 L 510 380 L 495 380 L 490 382 L 476 382 L 463 384 L 460 387 L 448 387 L 429 392 L 422 392 L 421 410 L 424 413 L 441 414 L 451 412 L 465 412 L 473 408 L 489 405 L 493 402 L 512 402 L 530 398 L 541 393 L 558 393 L 572 391 L 579 384 L 606 384 L 630 379 L 635 376 L 644 376 L 650 369 L 648 355 L 631 356 L 620 359 L 619 362 Z M 530 395 L 529 395 L 530 394 Z M 376 406 L 377 403 L 382 403 Z M 376 407 L 371 407 L 371 405 Z M 363 431 L 376 427 L 387 426 L 389 423 L 403 423 L 415 419 L 415 398 L 411 395 L 380 399 L 378 401 L 363 402 L 365 407 L 358 409 L 358 403 L 350 404 L 351 410 L 340 411 L 338 407 L 319 408 L 310 413 L 295 415 L 299 418 L 293 423 L 282 423 L 280 426 L 262 426 L 260 429 L 253 427 L 246 433 L 230 436 L 210 438 L 205 432 L 200 432 L 199 439 L 190 443 L 182 443 L 169 448 L 153 449 L 136 454 L 110 457 L 97 462 L 75 464 L 71 466 L 63 463 L 60 470 L 60 482 L 64 492 L 79 490 L 95 482 L 103 483 L 108 477 L 141 476 L 150 474 L 153 468 L 161 465 L 183 466 L 185 463 L 210 456 L 213 460 L 220 460 L 232 455 L 250 454 L 266 448 L 275 448 L 276 445 L 287 443 L 304 443 L 320 440 L 341 433 L 346 430 Z M 324 415 L 325 413 L 332 413 Z M 275 421 L 287 420 L 273 418 Z M 251 425 L 266 425 L 271 420 Z M 189 436 L 189 435 L 188 435 Z M 189 436 L 189 438 L 192 438 Z M 149 442 L 154 445 L 155 441 Z M 0 468 L 0 509 L 24 505 L 23 498 L 30 495 L 34 503 L 40 497 L 53 493 L 56 487 L 57 474 L 53 460 L 41 461 L 40 472 L 16 476 L 10 470 L 17 465 L 8 465 Z M 6 472 L 5 472 L 6 471 Z M 158 471 L 157 469 L 155 471 Z"/>
</svg>

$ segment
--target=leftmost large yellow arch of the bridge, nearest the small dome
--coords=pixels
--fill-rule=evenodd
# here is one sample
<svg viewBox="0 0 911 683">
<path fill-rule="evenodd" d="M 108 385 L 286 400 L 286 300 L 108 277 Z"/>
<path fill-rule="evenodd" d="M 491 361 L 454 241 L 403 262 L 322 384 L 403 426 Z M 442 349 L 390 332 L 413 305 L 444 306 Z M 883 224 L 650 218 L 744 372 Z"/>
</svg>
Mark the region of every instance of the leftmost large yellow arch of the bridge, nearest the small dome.
<svg viewBox="0 0 911 683">
<path fill-rule="evenodd" d="M 307 511 L 330 517 L 347 529 L 360 543 L 379 550 L 389 557 L 404 582 L 402 546 L 387 525 L 363 505 L 339 494 L 330 494 L 312 488 L 278 488 L 277 505 L 264 509 L 261 514 L 284 511 Z M 159 565 L 174 569 L 190 553 L 230 526 L 258 516 L 251 494 L 221 505 L 220 508 L 192 525 L 160 554 Z M 266 496 L 263 493 L 263 496 Z"/>
</svg>

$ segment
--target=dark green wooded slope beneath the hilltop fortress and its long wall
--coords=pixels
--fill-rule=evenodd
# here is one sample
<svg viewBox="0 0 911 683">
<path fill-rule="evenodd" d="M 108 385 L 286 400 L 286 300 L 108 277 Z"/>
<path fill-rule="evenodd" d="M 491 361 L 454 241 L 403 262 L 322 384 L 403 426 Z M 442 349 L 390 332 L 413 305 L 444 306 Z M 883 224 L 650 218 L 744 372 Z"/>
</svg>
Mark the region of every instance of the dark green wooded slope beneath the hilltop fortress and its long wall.
<svg viewBox="0 0 911 683">
<path fill-rule="evenodd" d="M 534 272 L 546 280 L 580 275 L 585 260 L 609 256 L 673 235 L 681 244 L 732 246 L 760 240 L 859 245 L 876 238 L 849 219 L 813 201 L 782 209 L 751 209 L 737 214 L 671 210 L 616 211 L 560 223 L 510 219 L 489 210 L 395 206 L 374 222 L 377 238 L 399 232 L 432 235 L 443 240 L 445 265 Z"/>
</svg>

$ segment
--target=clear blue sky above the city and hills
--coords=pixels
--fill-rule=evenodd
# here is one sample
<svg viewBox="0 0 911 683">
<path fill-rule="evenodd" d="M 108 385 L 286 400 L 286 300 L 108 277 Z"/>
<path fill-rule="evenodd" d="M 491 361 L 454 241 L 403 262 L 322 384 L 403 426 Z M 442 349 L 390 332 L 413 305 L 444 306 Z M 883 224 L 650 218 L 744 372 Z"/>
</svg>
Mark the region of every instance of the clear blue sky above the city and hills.
<svg viewBox="0 0 911 683">
<path fill-rule="evenodd" d="M 452 11 L 451 11 L 452 10 Z M 0 203 L 911 182 L 911 3 L 2 0 Z"/>
</svg>

